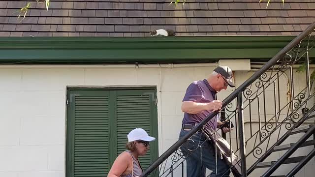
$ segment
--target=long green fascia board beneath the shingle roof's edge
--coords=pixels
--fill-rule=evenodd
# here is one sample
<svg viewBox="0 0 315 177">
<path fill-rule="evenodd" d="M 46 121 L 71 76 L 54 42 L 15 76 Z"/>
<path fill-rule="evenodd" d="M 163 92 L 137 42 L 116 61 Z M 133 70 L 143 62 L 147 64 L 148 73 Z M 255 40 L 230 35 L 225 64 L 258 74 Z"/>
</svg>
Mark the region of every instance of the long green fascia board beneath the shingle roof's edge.
<svg viewBox="0 0 315 177">
<path fill-rule="evenodd" d="M 0 63 L 162 63 L 270 59 L 294 37 L 0 37 Z M 310 57 L 315 57 L 314 51 Z"/>
</svg>

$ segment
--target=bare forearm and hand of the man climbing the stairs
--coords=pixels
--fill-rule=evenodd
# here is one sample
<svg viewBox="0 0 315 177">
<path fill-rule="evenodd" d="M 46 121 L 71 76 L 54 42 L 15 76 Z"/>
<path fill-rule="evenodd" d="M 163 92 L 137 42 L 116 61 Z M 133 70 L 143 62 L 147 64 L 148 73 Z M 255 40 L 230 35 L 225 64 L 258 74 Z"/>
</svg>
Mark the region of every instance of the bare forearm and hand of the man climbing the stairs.
<svg viewBox="0 0 315 177">
<path fill-rule="evenodd" d="M 197 103 L 193 101 L 183 101 L 182 111 L 189 114 L 198 114 L 205 110 L 217 111 L 222 108 L 222 102 L 214 100 L 210 103 Z"/>
</svg>

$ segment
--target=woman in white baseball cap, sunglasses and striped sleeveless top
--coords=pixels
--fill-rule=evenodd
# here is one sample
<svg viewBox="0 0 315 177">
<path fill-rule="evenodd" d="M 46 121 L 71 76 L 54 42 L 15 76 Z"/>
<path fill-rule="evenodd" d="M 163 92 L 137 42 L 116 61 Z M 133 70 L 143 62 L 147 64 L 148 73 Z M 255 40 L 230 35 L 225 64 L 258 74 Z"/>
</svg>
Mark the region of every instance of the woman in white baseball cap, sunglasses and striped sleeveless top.
<svg viewBox="0 0 315 177">
<path fill-rule="evenodd" d="M 139 155 L 145 155 L 149 149 L 149 143 L 156 138 L 151 137 L 142 128 L 131 130 L 128 135 L 126 148 L 115 160 L 107 177 L 138 177 L 143 170 L 138 161 Z"/>
</svg>

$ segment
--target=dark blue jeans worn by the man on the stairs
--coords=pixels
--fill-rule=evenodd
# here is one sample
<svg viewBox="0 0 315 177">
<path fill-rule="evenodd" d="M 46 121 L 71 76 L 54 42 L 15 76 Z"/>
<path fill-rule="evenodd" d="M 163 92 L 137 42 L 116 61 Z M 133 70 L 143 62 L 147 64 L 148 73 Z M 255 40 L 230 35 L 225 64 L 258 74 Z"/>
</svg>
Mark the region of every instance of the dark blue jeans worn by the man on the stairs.
<svg viewBox="0 0 315 177">
<path fill-rule="evenodd" d="M 185 136 L 189 131 L 182 130 L 180 138 Z M 212 170 L 210 177 L 229 177 L 229 166 L 217 156 L 218 176 L 216 176 L 216 157 L 215 149 L 211 141 L 207 141 L 205 135 L 195 133 L 183 146 L 181 150 L 186 156 L 187 177 L 205 177 L 206 168 Z M 201 145 L 202 144 L 202 145 Z M 201 150 L 200 146 L 201 145 Z M 201 155 L 200 155 L 201 151 Z"/>
</svg>

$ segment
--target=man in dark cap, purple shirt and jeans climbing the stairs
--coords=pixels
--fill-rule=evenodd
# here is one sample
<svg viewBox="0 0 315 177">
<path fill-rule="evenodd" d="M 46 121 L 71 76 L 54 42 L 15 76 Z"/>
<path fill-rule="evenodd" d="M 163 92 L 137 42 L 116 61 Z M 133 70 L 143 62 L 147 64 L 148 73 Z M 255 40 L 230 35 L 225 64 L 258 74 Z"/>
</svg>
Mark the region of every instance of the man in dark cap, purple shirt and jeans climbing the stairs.
<svg viewBox="0 0 315 177">
<path fill-rule="evenodd" d="M 232 82 L 232 70 L 227 66 L 218 66 L 208 79 L 194 81 L 189 85 L 182 103 L 182 111 L 185 114 L 180 138 L 211 112 L 221 110 L 222 102 L 216 99 L 216 94 L 227 86 L 235 87 Z M 221 124 L 223 123 L 216 116 L 207 122 L 204 128 L 216 130 Z M 230 129 L 224 127 L 222 131 L 226 133 Z M 183 154 L 187 157 L 187 177 L 205 177 L 206 168 L 212 170 L 211 177 L 216 176 L 216 170 L 218 177 L 229 177 L 229 166 L 217 157 L 216 167 L 214 146 L 201 132 L 202 130 L 195 133 L 181 147 Z"/>
</svg>

